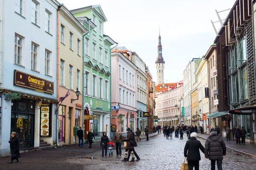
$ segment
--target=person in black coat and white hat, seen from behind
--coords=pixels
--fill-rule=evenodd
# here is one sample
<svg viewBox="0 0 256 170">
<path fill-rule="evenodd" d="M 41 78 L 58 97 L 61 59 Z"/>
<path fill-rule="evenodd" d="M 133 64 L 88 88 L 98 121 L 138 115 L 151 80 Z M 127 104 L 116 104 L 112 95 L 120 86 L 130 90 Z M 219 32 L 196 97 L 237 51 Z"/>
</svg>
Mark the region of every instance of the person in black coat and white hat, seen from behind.
<svg viewBox="0 0 256 170">
<path fill-rule="evenodd" d="M 197 134 L 195 132 L 190 134 L 191 138 L 187 140 L 184 147 L 184 156 L 188 161 L 189 170 L 199 170 L 199 161 L 201 160 L 200 151 L 204 153 L 204 147 L 200 141 L 196 139 Z"/>
</svg>

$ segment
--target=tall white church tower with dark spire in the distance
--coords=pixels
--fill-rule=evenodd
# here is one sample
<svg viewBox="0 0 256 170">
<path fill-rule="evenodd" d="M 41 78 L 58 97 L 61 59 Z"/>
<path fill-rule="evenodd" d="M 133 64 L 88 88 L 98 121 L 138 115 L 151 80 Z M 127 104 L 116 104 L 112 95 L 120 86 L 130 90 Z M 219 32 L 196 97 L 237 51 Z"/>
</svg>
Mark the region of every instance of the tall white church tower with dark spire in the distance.
<svg viewBox="0 0 256 170">
<path fill-rule="evenodd" d="M 156 61 L 156 68 L 157 68 L 157 84 L 164 83 L 164 63 L 162 56 L 162 45 L 161 45 L 161 36 L 160 36 L 160 28 L 159 28 L 159 37 L 158 37 L 158 57 Z"/>
</svg>

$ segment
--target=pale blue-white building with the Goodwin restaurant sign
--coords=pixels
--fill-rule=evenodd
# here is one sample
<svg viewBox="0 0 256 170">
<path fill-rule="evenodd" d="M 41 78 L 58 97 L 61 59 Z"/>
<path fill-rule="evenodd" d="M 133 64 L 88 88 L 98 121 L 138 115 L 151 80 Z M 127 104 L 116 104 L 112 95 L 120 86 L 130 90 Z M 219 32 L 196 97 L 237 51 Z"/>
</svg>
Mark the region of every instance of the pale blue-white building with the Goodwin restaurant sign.
<svg viewBox="0 0 256 170">
<path fill-rule="evenodd" d="M 0 94 L 5 93 L 0 100 L 0 156 L 10 154 L 12 131 L 21 152 L 57 141 L 58 5 L 56 0 L 0 0 Z"/>
</svg>

